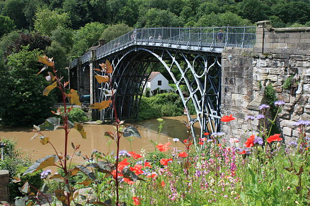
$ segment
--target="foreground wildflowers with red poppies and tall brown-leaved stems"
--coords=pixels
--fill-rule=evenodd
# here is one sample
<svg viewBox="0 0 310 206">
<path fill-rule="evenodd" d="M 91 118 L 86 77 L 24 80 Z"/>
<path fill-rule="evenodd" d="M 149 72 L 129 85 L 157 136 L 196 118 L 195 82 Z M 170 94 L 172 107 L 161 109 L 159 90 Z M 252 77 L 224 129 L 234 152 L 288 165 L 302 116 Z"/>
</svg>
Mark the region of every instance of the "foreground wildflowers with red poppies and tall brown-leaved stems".
<svg viewBox="0 0 310 206">
<path fill-rule="evenodd" d="M 34 126 L 34 138 L 39 137 L 42 144 L 50 144 L 44 130 L 65 130 L 65 151 L 55 149 L 55 155 L 37 160 L 24 174 L 32 173 L 48 166 L 57 167 L 60 172 L 53 174 L 46 170 L 41 176 L 46 184 L 35 188 L 37 193 L 29 192 L 31 185 L 25 182 L 20 188 L 24 194 L 17 198 L 15 204 L 41 204 L 37 196 L 44 195 L 52 183 L 56 183 L 55 199 L 48 205 L 308 205 L 310 203 L 310 165 L 308 161 L 308 143 L 306 127 L 310 121 L 298 121 L 296 127 L 299 138 L 296 142 L 285 142 L 281 133 L 273 133 L 276 117 L 268 119 L 269 105 L 259 107 L 261 113 L 248 116 L 245 124 L 253 120 L 260 121 L 259 130 L 248 130 L 247 135 L 240 139 L 228 136 L 223 132 L 212 134 L 205 132 L 203 136 L 192 136 L 190 123 L 185 121 L 188 136 L 186 139 L 174 138 L 166 142 L 150 141 L 153 151 L 120 150 L 120 141 L 139 144 L 141 138 L 132 126 L 126 126 L 118 119 L 114 110 L 115 127 L 104 135 L 111 138 L 117 145 L 114 152 L 103 153 L 94 148 L 91 155 L 81 154 L 80 145 L 71 146 L 72 155 L 67 153 L 69 144 L 68 133 L 71 129 L 80 132 L 87 138 L 83 125 L 72 124 L 67 119 L 70 104 L 80 104 L 76 91 L 65 92 L 67 82 L 57 76 L 54 62 L 47 57 L 40 61 L 53 69 L 50 72 L 51 85 L 44 90 L 44 95 L 59 88 L 63 94 L 64 111 L 54 113 L 57 117 L 49 118 L 45 123 Z M 112 67 L 108 61 L 96 69 L 105 75 L 96 75 L 101 82 L 112 81 Z M 110 84 L 112 85 L 112 84 Z M 102 110 L 115 108 L 113 88 L 110 88 L 110 99 L 97 102 L 90 107 Z M 274 102 L 278 112 L 283 101 Z M 277 113 L 278 114 L 278 113 Z M 59 118 L 58 118 L 59 117 Z M 185 117 L 184 117 L 185 118 Z M 63 123 L 60 124 L 59 120 Z M 186 119 L 186 118 L 185 118 Z M 228 125 L 234 121 L 233 115 L 222 116 L 221 121 Z M 159 132 L 165 127 L 159 119 Z M 251 127 L 252 128 L 252 127 Z M 195 139 L 196 138 L 196 139 Z M 195 139 L 195 141 L 194 141 Z M 183 147 L 176 147 L 181 141 Z M 83 158 L 83 165 L 74 165 L 73 156 Z M 82 174 L 80 182 L 70 184 L 72 177 Z M 22 174 L 21 174 L 22 175 Z M 21 182 L 19 177 L 16 182 Z M 86 193 L 81 194 L 81 188 Z"/>
</svg>

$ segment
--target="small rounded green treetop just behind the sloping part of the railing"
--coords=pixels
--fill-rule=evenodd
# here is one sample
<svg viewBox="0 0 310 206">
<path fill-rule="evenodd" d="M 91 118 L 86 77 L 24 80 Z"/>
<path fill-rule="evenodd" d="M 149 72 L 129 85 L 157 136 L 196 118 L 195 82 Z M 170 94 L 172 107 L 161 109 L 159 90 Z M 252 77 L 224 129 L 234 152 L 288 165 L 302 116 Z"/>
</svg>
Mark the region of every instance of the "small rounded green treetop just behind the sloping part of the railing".
<svg viewBox="0 0 310 206">
<path fill-rule="evenodd" d="M 115 38 L 118 38 L 130 31 L 132 31 L 133 28 L 129 27 L 128 25 L 122 23 L 122 24 L 115 24 L 110 25 L 104 31 L 102 32 L 101 39 L 106 40 L 106 42 L 109 42 Z"/>
</svg>

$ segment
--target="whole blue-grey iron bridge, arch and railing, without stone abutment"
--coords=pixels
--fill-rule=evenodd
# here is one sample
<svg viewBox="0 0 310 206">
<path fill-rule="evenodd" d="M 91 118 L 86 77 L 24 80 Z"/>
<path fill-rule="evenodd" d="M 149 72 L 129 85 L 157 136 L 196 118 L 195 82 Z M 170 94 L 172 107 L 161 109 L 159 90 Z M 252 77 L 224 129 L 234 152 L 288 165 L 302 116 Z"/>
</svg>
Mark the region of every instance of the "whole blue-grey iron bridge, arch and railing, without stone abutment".
<svg viewBox="0 0 310 206">
<path fill-rule="evenodd" d="M 134 29 L 73 60 L 70 78 L 75 75 L 80 84 L 90 79 L 91 104 L 109 99 L 107 91 L 116 89 L 117 114 L 121 120 L 130 120 L 138 117 L 145 79 L 157 66 L 165 67 L 185 111 L 189 111 L 186 115 L 193 136 L 195 123 L 199 124 L 202 136 L 204 132 L 219 131 L 221 53 L 226 46 L 252 47 L 254 43 L 255 27 L 251 26 Z M 94 78 L 93 69 L 106 60 L 113 66 L 112 85 L 99 84 Z M 178 74 L 174 74 L 172 68 L 177 68 Z M 97 115 L 103 122 L 114 120 L 112 108 Z"/>
</svg>

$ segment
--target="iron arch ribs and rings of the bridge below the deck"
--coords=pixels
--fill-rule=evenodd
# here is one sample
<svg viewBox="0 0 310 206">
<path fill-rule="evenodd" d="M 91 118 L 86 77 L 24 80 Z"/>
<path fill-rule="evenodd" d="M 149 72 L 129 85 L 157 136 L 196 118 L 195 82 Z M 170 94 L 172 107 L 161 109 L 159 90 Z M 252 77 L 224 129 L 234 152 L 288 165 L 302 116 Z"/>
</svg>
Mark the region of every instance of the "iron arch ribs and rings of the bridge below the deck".
<svg viewBox="0 0 310 206">
<path fill-rule="evenodd" d="M 221 64 L 218 53 L 134 46 L 126 52 L 113 54 L 105 59 L 109 60 L 114 68 L 112 87 L 117 89 L 115 103 L 121 119 L 137 118 L 146 82 L 143 80 L 148 78 L 156 64 L 160 64 L 175 83 L 184 108 L 189 111 L 189 101 L 195 107 L 197 117 L 187 113 L 193 135 L 195 135 L 193 126 L 196 122 L 201 128 L 200 135 L 219 130 Z M 99 60 L 98 64 L 105 59 Z M 173 67 L 177 68 L 178 76 L 173 73 Z M 184 89 L 181 85 L 185 85 L 182 88 L 187 88 L 188 96 L 183 94 Z M 97 101 L 110 98 L 105 92 L 110 88 L 108 83 L 97 83 L 97 88 Z M 99 117 L 101 120 L 112 121 L 112 109 L 100 112 Z"/>
</svg>

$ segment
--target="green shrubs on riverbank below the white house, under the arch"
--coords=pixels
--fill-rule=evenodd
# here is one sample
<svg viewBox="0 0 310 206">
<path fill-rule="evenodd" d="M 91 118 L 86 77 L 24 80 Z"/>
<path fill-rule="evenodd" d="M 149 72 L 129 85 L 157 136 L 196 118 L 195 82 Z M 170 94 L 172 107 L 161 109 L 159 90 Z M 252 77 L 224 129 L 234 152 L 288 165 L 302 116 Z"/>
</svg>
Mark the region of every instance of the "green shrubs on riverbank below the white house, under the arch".
<svg viewBox="0 0 310 206">
<path fill-rule="evenodd" d="M 191 101 L 187 103 L 191 114 L 195 111 Z M 162 93 L 156 96 L 142 96 L 138 114 L 138 121 L 155 119 L 163 116 L 173 117 L 184 113 L 181 97 L 176 93 Z"/>
</svg>

